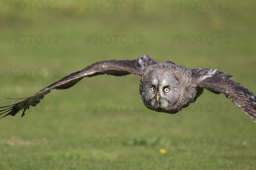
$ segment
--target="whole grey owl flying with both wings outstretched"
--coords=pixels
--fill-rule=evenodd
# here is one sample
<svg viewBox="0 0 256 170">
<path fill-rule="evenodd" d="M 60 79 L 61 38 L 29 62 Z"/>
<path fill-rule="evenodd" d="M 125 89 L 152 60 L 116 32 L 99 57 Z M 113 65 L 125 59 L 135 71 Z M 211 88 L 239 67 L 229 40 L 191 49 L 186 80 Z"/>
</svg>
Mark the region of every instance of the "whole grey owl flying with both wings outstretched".
<svg viewBox="0 0 256 170">
<path fill-rule="evenodd" d="M 147 55 L 134 60 L 96 62 L 47 86 L 31 97 L 23 98 L 21 102 L 0 107 L 0 115 L 6 113 L 2 118 L 8 115 L 15 116 L 23 110 L 21 116 L 24 116 L 30 106 L 37 105 L 52 89 L 70 88 L 84 77 L 100 74 L 114 76 L 139 74 L 141 97 L 145 106 L 153 111 L 177 113 L 195 102 L 206 88 L 215 94 L 225 94 L 256 122 L 256 97 L 248 89 L 233 81 L 232 76 L 218 70 L 186 68 L 169 61 L 157 62 Z"/>
</svg>

